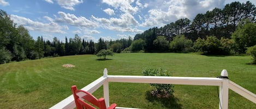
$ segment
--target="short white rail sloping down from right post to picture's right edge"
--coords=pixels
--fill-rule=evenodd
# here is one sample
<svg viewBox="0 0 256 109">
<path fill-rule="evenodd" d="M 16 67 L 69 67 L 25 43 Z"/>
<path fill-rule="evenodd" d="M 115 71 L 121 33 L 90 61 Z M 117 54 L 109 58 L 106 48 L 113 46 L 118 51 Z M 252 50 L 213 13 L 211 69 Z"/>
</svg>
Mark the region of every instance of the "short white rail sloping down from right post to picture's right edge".
<svg viewBox="0 0 256 109">
<path fill-rule="evenodd" d="M 229 88 L 240 94 L 242 97 L 245 97 L 246 99 L 254 102 L 254 104 L 256 104 L 256 95 L 250 91 L 248 91 L 247 89 L 235 84 L 235 82 L 233 81 L 229 81 Z"/>
</svg>

